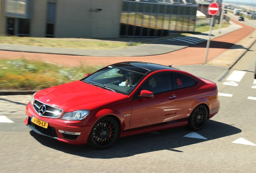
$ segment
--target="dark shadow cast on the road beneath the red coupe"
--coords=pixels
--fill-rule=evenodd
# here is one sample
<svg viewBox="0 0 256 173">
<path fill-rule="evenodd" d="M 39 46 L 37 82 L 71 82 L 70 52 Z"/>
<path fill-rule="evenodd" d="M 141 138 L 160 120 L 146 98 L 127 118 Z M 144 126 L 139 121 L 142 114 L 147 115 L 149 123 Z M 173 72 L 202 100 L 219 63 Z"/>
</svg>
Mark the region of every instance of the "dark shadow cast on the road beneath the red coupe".
<svg viewBox="0 0 256 173">
<path fill-rule="evenodd" d="M 180 127 L 124 137 L 118 139 L 114 145 L 105 150 L 95 150 L 87 145 L 71 145 L 58 142 L 55 139 L 39 135 L 34 131 L 30 131 L 30 134 L 45 147 L 50 147 L 67 154 L 93 159 L 113 159 L 161 150 L 182 153 L 183 151 L 176 148 L 196 143 L 204 143 L 205 141 L 235 135 L 242 131 L 231 125 L 209 120 L 207 121 L 204 129 L 196 132 L 207 139 L 184 137 L 184 135 L 192 132 L 194 131 L 188 130 L 186 127 Z"/>
</svg>

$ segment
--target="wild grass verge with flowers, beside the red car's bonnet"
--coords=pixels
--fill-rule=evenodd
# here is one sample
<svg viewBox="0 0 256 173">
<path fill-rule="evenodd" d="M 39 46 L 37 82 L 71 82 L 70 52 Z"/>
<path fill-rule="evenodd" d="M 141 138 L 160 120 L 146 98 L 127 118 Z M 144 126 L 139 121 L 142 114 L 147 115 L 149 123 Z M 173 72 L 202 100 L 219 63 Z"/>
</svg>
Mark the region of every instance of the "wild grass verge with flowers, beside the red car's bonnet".
<svg viewBox="0 0 256 173">
<path fill-rule="evenodd" d="M 82 79 L 102 66 L 79 66 L 73 68 L 61 65 L 35 62 L 26 58 L 0 60 L 0 90 L 41 90 L 48 87 Z"/>
</svg>

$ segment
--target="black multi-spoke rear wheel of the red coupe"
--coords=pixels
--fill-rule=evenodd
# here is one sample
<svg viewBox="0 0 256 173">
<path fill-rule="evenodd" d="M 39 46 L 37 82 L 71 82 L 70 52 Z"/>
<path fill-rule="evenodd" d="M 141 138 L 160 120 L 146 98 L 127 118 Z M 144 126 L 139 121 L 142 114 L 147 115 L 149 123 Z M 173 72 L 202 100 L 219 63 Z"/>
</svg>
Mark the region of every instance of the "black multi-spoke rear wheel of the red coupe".
<svg viewBox="0 0 256 173">
<path fill-rule="evenodd" d="M 209 116 L 206 105 L 198 105 L 188 119 L 188 128 L 194 131 L 201 130 Z"/>
</svg>

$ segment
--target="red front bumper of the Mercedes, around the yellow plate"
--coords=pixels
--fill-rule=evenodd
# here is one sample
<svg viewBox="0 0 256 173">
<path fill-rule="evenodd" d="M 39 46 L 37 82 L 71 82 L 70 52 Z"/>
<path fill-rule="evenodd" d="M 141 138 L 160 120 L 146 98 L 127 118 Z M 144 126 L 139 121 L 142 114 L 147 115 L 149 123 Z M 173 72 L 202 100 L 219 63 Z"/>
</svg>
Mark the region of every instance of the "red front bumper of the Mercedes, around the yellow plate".
<svg viewBox="0 0 256 173">
<path fill-rule="evenodd" d="M 54 119 L 50 117 L 40 117 L 30 103 L 26 107 L 26 119 L 25 125 L 31 128 L 34 132 L 57 139 L 58 141 L 70 144 L 87 144 L 91 127 L 86 126 L 85 120 L 83 121 L 67 121 L 60 118 Z M 47 129 L 31 122 L 31 117 L 36 117 L 41 121 L 45 121 L 48 124 Z"/>
</svg>

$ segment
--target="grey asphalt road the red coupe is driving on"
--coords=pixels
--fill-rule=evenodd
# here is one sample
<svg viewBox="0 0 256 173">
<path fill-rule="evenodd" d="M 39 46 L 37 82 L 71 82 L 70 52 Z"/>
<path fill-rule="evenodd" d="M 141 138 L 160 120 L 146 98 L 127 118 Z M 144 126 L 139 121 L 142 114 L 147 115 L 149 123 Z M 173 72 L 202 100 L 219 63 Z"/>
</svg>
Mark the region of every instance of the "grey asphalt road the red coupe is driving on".
<svg viewBox="0 0 256 173">
<path fill-rule="evenodd" d="M 256 100 L 248 99 L 256 97 L 256 89 L 251 88 L 256 85 L 255 51 L 256 44 L 231 70 L 176 66 L 215 80 L 219 93 L 226 95 L 219 96 L 219 113 L 201 131 L 182 127 L 120 138 L 103 151 L 34 133 L 23 123 L 31 96 L 0 96 L 0 172 L 255 172 Z M 227 80 L 233 71 L 246 73 L 240 82 L 233 78 L 237 86 L 223 84 L 234 84 Z M 4 123 L 4 116 L 14 123 Z"/>
</svg>

